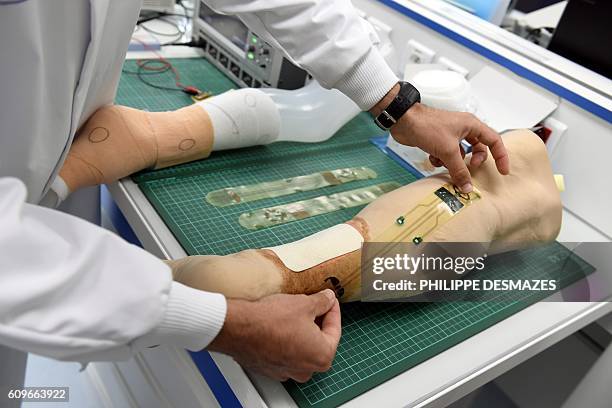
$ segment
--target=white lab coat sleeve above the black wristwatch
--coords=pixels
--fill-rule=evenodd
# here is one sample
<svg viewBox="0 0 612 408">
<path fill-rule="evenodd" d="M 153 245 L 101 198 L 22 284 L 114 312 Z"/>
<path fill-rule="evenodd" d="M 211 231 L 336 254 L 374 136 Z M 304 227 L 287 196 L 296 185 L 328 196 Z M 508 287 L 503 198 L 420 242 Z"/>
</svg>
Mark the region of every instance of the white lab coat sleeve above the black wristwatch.
<svg viewBox="0 0 612 408">
<path fill-rule="evenodd" d="M 215 11 L 238 16 L 279 46 L 321 85 L 336 88 L 362 110 L 374 106 L 398 78 L 350 0 L 206 0 Z"/>
</svg>

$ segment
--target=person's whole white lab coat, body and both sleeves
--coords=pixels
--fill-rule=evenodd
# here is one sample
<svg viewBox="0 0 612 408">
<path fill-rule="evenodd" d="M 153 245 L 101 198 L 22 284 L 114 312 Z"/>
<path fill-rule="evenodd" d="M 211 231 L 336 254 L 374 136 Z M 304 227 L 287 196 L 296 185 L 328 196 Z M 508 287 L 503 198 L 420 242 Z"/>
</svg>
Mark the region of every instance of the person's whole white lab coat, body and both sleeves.
<svg viewBox="0 0 612 408">
<path fill-rule="evenodd" d="M 363 109 L 397 80 L 349 0 L 210 5 L 239 15 Z M 78 127 L 112 103 L 139 6 L 0 0 L 0 345 L 110 360 L 154 344 L 201 349 L 223 324 L 221 295 L 173 283 L 140 248 L 36 205 Z"/>
</svg>

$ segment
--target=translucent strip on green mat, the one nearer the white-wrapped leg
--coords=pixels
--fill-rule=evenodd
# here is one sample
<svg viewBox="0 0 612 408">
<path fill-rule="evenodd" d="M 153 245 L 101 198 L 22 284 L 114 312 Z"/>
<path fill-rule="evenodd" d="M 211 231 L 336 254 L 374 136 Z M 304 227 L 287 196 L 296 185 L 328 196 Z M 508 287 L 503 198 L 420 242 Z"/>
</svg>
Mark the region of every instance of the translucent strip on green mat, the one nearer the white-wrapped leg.
<svg viewBox="0 0 612 408">
<path fill-rule="evenodd" d="M 211 191 L 206 195 L 206 201 L 216 207 L 226 207 L 265 198 L 281 197 L 301 191 L 316 190 L 327 186 L 336 186 L 351 181 L 373 179 L 376 176 L 376 172 L 369 167 L 326 170 L 304 176 Z"/>
</svg>

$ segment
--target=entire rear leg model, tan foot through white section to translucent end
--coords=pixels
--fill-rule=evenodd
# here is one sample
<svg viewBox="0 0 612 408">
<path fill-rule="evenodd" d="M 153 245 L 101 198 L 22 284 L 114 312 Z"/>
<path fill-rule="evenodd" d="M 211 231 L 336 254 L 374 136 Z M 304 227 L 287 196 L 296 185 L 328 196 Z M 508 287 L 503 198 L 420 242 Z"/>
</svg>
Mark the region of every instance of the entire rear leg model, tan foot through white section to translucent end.
<svg viewBox="0 0 612 408">
<path fill-rule="evenodd" d="M 77 132 L 51 188 L 61 202 L 79 188 L 203 159 L 211 151 L 274 141 L 320 142 L 357 113 L 350 99 L 315 81 L 295 91 L 229 91 L 171 112 L 105 106 Z M 314 127 L 313 117 L 318 118 Z"/>
</svg>

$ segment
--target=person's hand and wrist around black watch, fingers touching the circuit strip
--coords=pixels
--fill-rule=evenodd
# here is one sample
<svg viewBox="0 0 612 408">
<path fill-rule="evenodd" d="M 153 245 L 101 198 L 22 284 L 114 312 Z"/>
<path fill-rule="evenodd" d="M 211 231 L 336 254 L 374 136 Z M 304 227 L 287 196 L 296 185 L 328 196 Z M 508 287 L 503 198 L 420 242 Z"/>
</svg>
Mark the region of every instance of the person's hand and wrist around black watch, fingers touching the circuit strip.
<svg viewBox="0 0 612 408">
<path fill-rule="evenodd" d="M 386 108 L 397 92 L 396 85 L 371 112 L 378 115 Z M 399 143 L 419 147 L 429 153 L 431 164 L 445 166 L 461 191 L 472 191 L 472 178 L 465 164 L 465 151 L 460 146 L 465 139 L 472 145 L 470 166 L 477 168 L 488 156 L 495 159 L 497 170 L 508 174 L 510 161 L 501 136 L 482 123 L 474 115 L 465 112 L 448 112 L 417 103 L 413 105 L 391 128 L 391 136 Z"/>
</svg>

